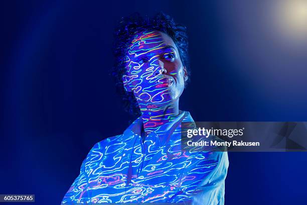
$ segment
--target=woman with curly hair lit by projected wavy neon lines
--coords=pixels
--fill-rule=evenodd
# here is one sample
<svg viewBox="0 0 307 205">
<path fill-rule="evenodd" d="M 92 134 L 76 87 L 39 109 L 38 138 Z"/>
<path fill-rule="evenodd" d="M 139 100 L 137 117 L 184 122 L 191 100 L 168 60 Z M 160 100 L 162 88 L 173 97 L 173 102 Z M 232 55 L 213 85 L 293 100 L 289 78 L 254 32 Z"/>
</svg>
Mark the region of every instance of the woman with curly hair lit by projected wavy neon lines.
<svg viewBox="0 0 307 205">
<path fill-rule="evenodd" d="M 128 111 L 122 135 L 98 142 L 62 203 L 224 204 L 227 152 L 181 149 L 179 110 L 189 79 L 185 27 L 162 13 L 123 18 L 115 32 L 113 75 Z"/>
</svg>

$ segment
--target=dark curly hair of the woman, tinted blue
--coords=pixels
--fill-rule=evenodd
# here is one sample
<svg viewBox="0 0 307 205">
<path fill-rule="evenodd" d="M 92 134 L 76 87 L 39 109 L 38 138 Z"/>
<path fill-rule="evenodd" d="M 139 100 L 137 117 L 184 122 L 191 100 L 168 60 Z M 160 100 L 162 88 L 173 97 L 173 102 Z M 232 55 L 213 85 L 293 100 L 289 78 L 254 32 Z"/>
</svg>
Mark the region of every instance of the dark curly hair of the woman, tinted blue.
<svg viewBox="0 0 307 205">
<path fill-rule="evenodd" d="M 122 97 L 124 110 L 132 116 L 140 115 L 140 110 L 133 92 L 125 91 L 122 76 L 126 74 L 124 61 L 127 49 L 135 34 L 143 31 L 160 31 L 170 36 L 179 50 L 181 61 L 183 65 L 186 66 L 188 75 L 190 75 L 188 35 L 185 26 L 177 24 L 173 18 L 162 12 L 152 18 L 142 18 L 138 13 L 121 18 L 118 27 L 114 32 L 114 65 L 111 75 L 116 82 L 116 91 Z M 187 82 L 185 85 L 187 85 Z"/>
</svg>

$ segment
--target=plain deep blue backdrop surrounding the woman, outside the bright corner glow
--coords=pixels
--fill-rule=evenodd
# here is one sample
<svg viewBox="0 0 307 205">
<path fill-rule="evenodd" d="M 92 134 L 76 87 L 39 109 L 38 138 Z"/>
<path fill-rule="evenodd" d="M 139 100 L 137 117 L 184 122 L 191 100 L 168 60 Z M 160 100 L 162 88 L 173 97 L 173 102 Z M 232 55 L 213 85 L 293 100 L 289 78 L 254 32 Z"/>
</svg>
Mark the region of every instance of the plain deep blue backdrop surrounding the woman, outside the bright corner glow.
<svg viewBox="0 0 307 205">
<path fill-rule="evenodd" d="M 180 107 L 195 121 L 307 121 L 307 46 L 280 37 L 264 1 L 1 4 L 0 193 L 60 204 L 90 148 L 133 120 L 108 73 L 116 22 L 136 11 L 188 27 L 192 76 Z M 225 204 L 306 203 L 307 153 L 229 161 Z"/>
</svg>

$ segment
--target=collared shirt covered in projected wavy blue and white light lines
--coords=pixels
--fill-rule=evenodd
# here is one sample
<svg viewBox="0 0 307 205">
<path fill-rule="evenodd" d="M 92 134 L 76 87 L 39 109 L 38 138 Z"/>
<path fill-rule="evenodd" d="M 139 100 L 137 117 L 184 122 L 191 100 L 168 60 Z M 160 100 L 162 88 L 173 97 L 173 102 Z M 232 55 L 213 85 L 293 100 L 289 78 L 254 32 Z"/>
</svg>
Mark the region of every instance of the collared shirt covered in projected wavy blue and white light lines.
<svg viewBox="0 0 307 205">
<path fill-rule="evenodd" d="M 141 118 L 122 135 L 98 142 L 62 203 L 191 202 L 224 204 L 227 152 L 181 150 L 189 112 L 142 141 Z"/>
</svg>

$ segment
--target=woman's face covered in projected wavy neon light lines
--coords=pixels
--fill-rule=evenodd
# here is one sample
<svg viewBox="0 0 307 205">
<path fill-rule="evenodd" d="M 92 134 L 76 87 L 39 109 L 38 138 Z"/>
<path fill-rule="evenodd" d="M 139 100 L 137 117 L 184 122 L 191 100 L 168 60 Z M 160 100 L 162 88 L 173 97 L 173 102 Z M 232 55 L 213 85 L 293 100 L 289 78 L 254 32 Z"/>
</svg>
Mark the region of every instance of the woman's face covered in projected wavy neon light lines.
<svg viewBox="0 0 307 205">
<path fill-rule="evenodd" d="M 126 56 L 124 87 L 138 102 L 157 107 L 179 99 L 188 79 L 173 39 L 160 31 L 135 35 Z"/>
</svg>

